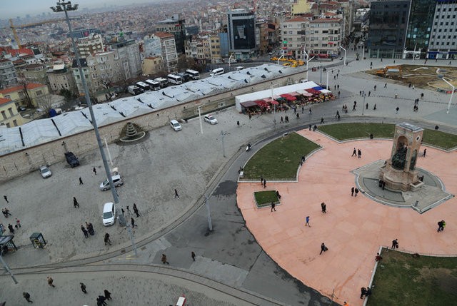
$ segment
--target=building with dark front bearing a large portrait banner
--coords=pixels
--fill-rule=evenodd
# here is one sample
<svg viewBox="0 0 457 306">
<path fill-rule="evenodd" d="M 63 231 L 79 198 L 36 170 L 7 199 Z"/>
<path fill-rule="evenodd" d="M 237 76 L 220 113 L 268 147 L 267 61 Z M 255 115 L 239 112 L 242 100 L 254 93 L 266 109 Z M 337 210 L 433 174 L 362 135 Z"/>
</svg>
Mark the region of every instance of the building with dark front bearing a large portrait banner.
<svg viewBox="0 0 457 306">
<path fill-rule="evenodd" d="M 234 9 L 227 13 L 229 52 L 237 59 L 256 53 L 256 16 L 253 11 Z"/>
</svg>

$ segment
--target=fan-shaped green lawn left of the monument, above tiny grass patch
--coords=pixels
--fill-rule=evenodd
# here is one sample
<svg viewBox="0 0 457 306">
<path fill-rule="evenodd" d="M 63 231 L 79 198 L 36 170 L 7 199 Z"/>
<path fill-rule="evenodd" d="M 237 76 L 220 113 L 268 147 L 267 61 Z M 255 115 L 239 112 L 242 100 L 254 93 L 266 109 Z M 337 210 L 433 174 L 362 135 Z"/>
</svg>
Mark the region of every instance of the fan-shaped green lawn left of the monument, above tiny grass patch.
<svg viewBox="0 0 457 306">
<path fill-rule="evenodd" d="M 271 141 L 261 148 L 244 167 L 244 178 L 259 180 L 294 180 L 301 156 L 308 155 L 319 148 L 297 133 Z"/>
</svg>

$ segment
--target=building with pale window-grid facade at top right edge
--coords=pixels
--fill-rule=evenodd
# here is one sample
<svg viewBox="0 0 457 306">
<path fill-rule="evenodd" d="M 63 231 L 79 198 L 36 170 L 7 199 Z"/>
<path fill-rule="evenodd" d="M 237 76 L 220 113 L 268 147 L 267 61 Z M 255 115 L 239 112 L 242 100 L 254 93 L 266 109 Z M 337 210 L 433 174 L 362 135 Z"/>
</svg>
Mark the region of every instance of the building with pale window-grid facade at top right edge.
<svg viewBox="0 0 457 306">
<path fill-rule="evenodd" d="M 436 2 L 427 58 L 457 58 L 457 1 Z"/>
</svg>

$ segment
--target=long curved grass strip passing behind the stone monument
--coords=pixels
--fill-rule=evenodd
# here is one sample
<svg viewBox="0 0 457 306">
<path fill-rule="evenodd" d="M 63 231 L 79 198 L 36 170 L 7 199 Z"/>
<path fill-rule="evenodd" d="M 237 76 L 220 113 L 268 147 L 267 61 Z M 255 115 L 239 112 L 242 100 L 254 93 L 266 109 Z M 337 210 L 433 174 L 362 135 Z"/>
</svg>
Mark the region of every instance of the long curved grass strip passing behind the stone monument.
<svg viewBox="0 0 457 306">
<path fill-rule="evenodd" d="M 370 134 L 373 134 L 375 138 L 393 138 L 395 125 L 386 123 L 339 123 L 319 126 L 319 130 L 339 141 L 368 138 Z M 424 129 L 423 143 L 451 149 L 457 146 L 457 135 Z"/>
</svg>

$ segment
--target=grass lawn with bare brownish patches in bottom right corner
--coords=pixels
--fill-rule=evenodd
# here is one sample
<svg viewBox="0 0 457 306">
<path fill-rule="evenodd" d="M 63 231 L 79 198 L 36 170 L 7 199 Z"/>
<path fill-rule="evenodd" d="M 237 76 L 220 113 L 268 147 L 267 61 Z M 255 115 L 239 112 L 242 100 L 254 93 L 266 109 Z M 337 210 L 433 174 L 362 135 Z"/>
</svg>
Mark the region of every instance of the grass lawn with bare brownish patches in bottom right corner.
<svg viewBox="0 0 457 306">
<path fill-rule="evenodd" d="M 385 250 L 381 255 L 368 306 L 457 305 L 457 257 L 414 258 Z"/>
</svg>

